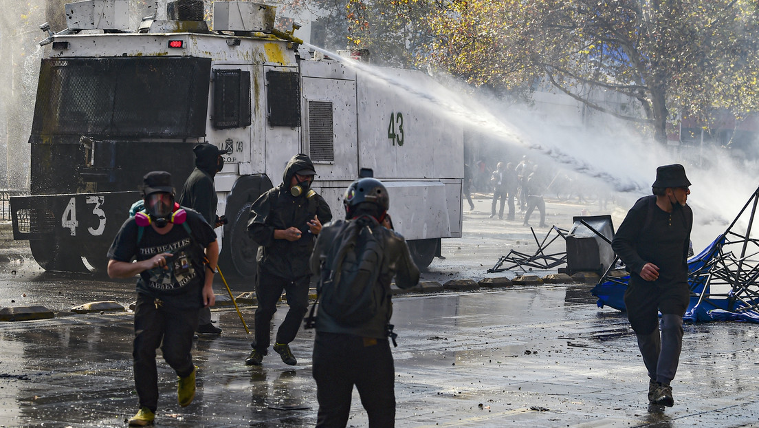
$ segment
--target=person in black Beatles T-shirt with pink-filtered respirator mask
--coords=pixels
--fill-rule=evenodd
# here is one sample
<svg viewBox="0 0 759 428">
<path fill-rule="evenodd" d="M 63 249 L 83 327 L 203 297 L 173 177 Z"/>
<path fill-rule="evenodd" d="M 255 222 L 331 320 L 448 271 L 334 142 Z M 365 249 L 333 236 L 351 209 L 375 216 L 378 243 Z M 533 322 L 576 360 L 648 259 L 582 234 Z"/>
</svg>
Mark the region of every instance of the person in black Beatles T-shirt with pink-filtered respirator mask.
<svg viewBox="0 0 759 428">
<path fill-rule="evenodd" d="M 143 177 L 143 206 L 124 221 L 108 250 L 109 277 L 140 274 L 132 353 L 140 410 L 130 426 L 150 425 L 156 417 L 159 346 L 177 373 L 179 404 L 193 401 L 193 335 L 200 308 L 216 302 L 211 285 L 219 260 L 213 228 L 197 212 L 175 203 L 171 174 L 153 171 Z"/>
</svg>

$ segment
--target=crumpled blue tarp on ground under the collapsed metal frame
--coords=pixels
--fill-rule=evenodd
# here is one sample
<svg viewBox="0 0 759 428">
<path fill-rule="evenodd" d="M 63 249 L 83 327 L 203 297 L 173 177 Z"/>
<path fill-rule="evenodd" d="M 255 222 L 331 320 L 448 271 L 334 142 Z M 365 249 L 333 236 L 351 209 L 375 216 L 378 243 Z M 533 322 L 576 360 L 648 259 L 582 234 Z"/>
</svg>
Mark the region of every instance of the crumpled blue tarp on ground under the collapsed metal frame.
<svg viewBox="0 0 759 428">
<path fill-rule="evenodd" d="M 714 266 L 714 259 L 720 255 L 720 249 L 725 243 L 725 235 L 720 235 L 714 239 L 707 248 L 698 255 L 688 260 L 688 284 L 691 289 L 691 303 L 685 312 L 683 319 L 689 322 L 710 322 L 710 321 L 739 321 L 754 322 L 759 324 L 759 314 L 753 311 L 742 312 L 742 308 L 747 308 L 754 304 L 754 301 L 743 302 L 742 300 L 733 300 L 732 292 L 721 299 L 704 298 L 701 299 L 702 293 L 709 293 L 707 287 L 707 277 Z M 602 281 L 591 290 L 594 296 L 598 297 L 597 305 L 611 306 L 614 309 L 625 311 L 625 290 L 630 277 L 603 277 Z M 706 290 L 704 291 L 704 289 Z M 732 311 L 729 306 L 732 303 Z"/>
</svg>

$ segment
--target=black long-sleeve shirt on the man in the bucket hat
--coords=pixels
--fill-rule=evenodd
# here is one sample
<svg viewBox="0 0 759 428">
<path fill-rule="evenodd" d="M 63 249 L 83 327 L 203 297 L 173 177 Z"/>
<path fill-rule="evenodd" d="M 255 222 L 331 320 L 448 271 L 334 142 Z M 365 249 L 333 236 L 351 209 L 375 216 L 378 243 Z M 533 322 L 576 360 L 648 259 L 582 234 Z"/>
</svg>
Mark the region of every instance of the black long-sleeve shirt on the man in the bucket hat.
<svg viewBox="0 0 759 428">
<path fill-rule="evenodd" d="M 656 204 L 655 195 L 638 199 L 619 225 L 612 248 L 637 281 L 646 263 L 659 268 L 657 284 L 688 281 L 688 243 L 693 211 L 675 204 L 672 213 Z"/>
</svg>

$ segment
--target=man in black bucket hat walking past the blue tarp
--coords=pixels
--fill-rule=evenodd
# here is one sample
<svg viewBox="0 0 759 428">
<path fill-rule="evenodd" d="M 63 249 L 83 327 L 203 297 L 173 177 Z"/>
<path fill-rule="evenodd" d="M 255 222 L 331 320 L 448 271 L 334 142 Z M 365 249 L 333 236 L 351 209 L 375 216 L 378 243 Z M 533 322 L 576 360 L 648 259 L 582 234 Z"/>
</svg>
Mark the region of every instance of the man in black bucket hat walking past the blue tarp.
<svg viewBox="0 0 759 428">
<path fill-rule="evenodd" d="M 653 195 L 635 202 L 612 242 L 630 272 L 625 306 L 648 371 L 648 401 L 669 407 L 675 403 L 669 384 L 680 359 L 682 315 L 690 296 L 690 185 L 679 163 L 659 166 Z"/>
</svg>

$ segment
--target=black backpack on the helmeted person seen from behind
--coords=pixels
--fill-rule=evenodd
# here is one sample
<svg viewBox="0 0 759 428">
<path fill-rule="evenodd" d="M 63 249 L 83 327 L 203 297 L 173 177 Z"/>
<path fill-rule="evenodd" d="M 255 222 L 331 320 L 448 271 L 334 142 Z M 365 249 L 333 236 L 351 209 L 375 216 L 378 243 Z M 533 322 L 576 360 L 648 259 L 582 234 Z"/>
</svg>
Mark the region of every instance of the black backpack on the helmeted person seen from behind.
<svg viewBox="0 0 759 428">
<path fill-rule="evenodd" d="M 372 231 L 376 220 L 359 217 L 342 224 L 334 245 L 322 263 L 317 300 L 319 310 L 342 325 L 361 325 L 372 319 L 386 300 L 377 284 L 383 269 L 383 236 Z M 313 325 L 313 309 L 307 325 Z"/>
</svg>

